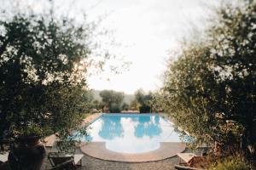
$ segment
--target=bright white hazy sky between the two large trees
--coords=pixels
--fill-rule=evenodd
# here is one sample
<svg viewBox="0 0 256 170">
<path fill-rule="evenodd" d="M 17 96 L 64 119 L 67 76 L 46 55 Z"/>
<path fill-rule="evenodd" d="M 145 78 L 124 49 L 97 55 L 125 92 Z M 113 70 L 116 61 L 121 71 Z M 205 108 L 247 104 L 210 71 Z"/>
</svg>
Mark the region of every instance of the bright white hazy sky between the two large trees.
<svg viewBox="0 0 256 170">
<path fill-rule="evenodd" d="M 18 0 L 42 8 L 44 0 Z M 43 2 L 42 4 L 38 2 Z M 209 3 L 217 0 L 55 0 L 56 8 L 64 8 L 74 16 L 88 15 L 88 20 L 102 20 L 101 27 L 113 31 L 107 40 L 119 46 L 107 45 L 117 59 L 108 65 L 130 62 L 129 70 L 114 74 L 108 69 L 88 79 L 94 89 L 113 89 L 133 94 L 138 88 L 145 91 L 161 86 L 161 75 L 166 69 L 168 51 L 178 48 L 178 41 L 188 36 L 195 26 L 204 27 Z M 211 6 L 210 5 L 210 6 Z M 65 9 L 67 8 L 67 9 Z M 105 39 L 106 40 L 106 39 Z"/>
</svg>

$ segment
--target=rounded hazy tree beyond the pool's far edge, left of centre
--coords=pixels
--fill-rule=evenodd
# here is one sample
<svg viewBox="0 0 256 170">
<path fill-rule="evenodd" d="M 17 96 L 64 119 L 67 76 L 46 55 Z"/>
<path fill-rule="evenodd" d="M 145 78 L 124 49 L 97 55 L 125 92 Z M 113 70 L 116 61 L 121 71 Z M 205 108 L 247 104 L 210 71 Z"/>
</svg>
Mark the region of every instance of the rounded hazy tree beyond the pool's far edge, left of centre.
<svg viewBox="0 0 256 170">
<path fill-rule="evenodd" d="M 102 97 L 102 103 L 108 107 L 111 113 L 119 113 L 121 110 L 121 104 L 124 99 L 124 93 L 115 92 L 113 90 L 103 90 L 100 93 Z"/>
</svg>

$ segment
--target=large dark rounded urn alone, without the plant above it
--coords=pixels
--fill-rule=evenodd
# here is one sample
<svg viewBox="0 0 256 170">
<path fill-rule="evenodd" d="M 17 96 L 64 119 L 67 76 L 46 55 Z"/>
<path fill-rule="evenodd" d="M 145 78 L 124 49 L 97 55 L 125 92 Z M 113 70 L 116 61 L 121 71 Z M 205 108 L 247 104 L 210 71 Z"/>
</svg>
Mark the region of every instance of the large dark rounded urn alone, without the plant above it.
<svg viewBox="0 0 256 170">
<path fill-rule="evenodd" d="M 12 170 L 40 170 L 46 150 L 37 137 L 22 136 L 16 139 L 9 152 L 9 167 Z"/>
</svg>

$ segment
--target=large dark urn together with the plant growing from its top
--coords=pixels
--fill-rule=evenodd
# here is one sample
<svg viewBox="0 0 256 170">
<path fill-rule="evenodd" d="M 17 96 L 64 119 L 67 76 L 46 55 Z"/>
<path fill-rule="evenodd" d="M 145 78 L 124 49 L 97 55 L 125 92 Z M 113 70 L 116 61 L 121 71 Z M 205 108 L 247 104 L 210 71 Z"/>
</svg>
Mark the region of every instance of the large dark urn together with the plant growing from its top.
<svg viewBox="0 0 256 170">
<path fill-rule="evenodd" d="M 40 141 L 41 127 L 30 125 L 20 130 L 9 151 L 9 167 L 12 170 L 39 170 L 43 164 L 46 150 Z"/>
</svg>

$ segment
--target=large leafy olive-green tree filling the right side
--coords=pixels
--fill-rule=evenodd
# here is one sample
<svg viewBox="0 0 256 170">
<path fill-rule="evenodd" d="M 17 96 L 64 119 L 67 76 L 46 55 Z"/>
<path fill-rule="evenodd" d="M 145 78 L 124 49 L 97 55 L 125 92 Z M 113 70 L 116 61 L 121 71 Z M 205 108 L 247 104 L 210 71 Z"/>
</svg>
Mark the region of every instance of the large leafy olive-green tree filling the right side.
<svg viewBox="0 0 256 170">
<path fill-rule="evenodd" d="M 177 127 L 197 141 L 254 158 L 255 12 L 255 1 L 220 8 L 206 37 L 183 43 L 170 61 L 161 100 Z"/>
</svg>

